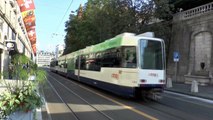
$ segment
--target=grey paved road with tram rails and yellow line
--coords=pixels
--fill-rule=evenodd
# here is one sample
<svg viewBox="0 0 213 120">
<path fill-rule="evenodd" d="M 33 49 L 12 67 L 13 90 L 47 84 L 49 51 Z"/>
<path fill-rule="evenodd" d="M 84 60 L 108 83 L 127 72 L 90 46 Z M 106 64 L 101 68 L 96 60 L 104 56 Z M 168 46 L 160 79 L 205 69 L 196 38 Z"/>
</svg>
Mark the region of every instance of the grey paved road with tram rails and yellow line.
<svg viewBox="0 0 213 120">
<path fill-rule="evenodd" d="M 159 101 L 123 98 L 48 72 L 43 88 L 52 120 L 211 120 L 212 103 L 163 94 Z"/>
</svg>

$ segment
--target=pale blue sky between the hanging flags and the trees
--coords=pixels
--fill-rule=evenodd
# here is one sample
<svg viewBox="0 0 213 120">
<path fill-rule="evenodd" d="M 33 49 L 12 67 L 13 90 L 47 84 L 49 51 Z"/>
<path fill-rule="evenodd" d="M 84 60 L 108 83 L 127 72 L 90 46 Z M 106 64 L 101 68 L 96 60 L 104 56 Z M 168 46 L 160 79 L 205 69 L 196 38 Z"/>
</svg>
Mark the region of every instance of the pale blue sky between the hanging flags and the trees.
<svg viewBox="0 0 213 120">
<path fill-rule="evenodd" d="M 87 0 L 34 0 L 37 50 L 55 52 L 56 45 L 64 44 L 65 22 L 71 11 L 76 11 L 80 4 L 84 5 L 86 2 Z"/>
</svg>

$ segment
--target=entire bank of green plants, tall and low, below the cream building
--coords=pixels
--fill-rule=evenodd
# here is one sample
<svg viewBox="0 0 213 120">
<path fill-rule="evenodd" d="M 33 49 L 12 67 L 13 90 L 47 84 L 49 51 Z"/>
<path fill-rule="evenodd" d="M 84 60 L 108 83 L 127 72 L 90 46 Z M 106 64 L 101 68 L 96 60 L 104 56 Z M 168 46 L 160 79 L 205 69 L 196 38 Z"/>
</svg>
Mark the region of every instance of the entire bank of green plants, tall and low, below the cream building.
<svg viewBox="0 0 213 120">
<path fill-rule="evenodd" d="M 4 71 L 1 82 L 6 86 L 6 91 L 0 95 L 0 118 L 5 118 L 11 113 L 21 110 L 28 112 L 41 107 L 43 100 L 39 96 L 38 87 L 45 83 L 46 72 L 38 69 L 37 65 L 24 55 L 12 56 L 9 72 Z M 8 76 L 15 82 L 5 80 Z M 35 76 L 35 80 L 28 80 Z"/>
</svg>

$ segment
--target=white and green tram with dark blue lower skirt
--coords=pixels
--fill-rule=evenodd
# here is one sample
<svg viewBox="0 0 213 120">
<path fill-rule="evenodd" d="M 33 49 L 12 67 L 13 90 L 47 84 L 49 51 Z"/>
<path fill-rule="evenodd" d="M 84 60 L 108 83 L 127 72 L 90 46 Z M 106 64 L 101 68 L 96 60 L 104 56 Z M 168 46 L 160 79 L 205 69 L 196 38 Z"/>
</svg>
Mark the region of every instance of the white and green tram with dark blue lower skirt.
<svg viewBox="0 0 213 120">
<path fill-rule="evenodd" d="M 124 96 L 162 91 L 166 83 L 165 44 L 150 35 L 123 33 L 61 56 L 52 62 L 51 70 Z"/>
</svg>

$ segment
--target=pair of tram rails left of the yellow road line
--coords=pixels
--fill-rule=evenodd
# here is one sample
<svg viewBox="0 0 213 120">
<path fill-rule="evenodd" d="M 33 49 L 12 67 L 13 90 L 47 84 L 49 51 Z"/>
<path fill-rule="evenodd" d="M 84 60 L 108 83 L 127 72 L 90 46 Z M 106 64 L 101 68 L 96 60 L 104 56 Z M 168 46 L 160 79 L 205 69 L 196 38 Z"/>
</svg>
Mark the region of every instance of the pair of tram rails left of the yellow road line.
<svg viewBox="0 0 213 120">
<path fill-rule="evenodd" d="M 48 73 L 49 74 L 49 73 Z M 101 114 L 102 116 L 104 116 L 107 120 L 113 120 L 110 116 L 106 115 L 105 113 L 103 113 L 102 111 L 98 110 L 96 107 L 94 107 L 92 104 L 90 104 L 87 100 L 85 100 L 84 98 L 82 98 L 81 96 L 79 96 L 77 93 L 75 93 L 73 90 L 71 90 L 70 88 L 66 87 L 63 83 L 59 82 L 58 80 L 56 80 L 54 77 L 52 77 L 50 75 L 50 78 L 55 81 L 56 83 L 58 83 L 58 85 L 61 85 L 60 89 L 64 88 L 66 89 L 70 94 L 74 95 L 75 97 L 79 98 L 80 100 L 82 100 L 84 103 L 86 103 L 88 106 L 90 106 L 92 109 L 94 109 L 95 111 L 97 111 L 97 113 Z M 73 112 L 76 120 L 80 120 L 79 116 L 75 113 L 75 111 L 69 106 L 69 103 L 65 102 L 65 100 L 62 98 L 63 96 L 61 96 L 57 89 L 55 88 L 55 85 L 51 84 L 50 81 L 48 80 L 48 84 L 52 87 L 52 89 L 55 91 L 55 93 L 57 94 L 57 96 L 62 100 L 62 102 L 64 104 L 66 104 L 66 106 L 70 109 L 70 111 Z"/>
</svg>

